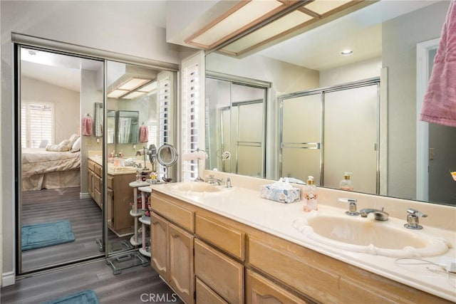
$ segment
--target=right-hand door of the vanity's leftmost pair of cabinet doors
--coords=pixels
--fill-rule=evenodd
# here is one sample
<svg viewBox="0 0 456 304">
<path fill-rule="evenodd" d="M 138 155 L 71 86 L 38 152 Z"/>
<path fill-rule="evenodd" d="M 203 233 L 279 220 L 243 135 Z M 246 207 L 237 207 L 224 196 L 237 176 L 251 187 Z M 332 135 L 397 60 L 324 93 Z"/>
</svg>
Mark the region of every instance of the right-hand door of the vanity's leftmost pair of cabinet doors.
<svg viewBox="0 0 456 304">
<path fill-rule="evenodd" d="M 170 285 L 187 304 L 195 303 L 193 239 L 188 232 L 169 224 Z M 152 243 L 152 247 L 156 246 Z"/>
</svg>

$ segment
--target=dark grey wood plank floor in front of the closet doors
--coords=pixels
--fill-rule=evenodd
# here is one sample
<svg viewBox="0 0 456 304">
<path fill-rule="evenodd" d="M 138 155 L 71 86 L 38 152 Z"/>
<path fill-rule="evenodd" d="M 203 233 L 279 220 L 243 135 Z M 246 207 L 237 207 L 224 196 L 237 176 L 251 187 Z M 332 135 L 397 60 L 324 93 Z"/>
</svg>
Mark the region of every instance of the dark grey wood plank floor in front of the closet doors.
<svg viewBox="0 0 456 304">
<path fill-rule="evenodd" d="M 151 266 L 114 275 L 104 260 L 23 278 L 1 288 L 0 302 L 43 303 L 85 289 L 94 290 L 100 304 L 183 303 Z"/>
</svg>

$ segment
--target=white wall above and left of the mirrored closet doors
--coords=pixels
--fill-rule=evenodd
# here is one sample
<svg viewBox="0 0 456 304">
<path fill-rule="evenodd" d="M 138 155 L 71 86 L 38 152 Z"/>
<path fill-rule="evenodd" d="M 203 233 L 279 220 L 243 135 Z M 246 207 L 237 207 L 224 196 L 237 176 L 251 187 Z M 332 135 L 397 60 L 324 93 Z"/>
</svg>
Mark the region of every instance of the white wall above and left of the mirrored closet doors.
<svg viewBox="0 0 456 304">
<path fill-rule="evenodd" d="M 156 2 L 156 3 L 155 3 Z M 165 63 L 180 62 L 180 48 L 166 43 L 159 1 L 0 1 L 1 29 L 1 189 L 14 189 L 14 98 L 11 33 L 123 53 Z M 14 204 L 1 192 L 3 274 L 14 283 Z M 11 282 L 12 281 L 12 282 Z"/>
</svg>

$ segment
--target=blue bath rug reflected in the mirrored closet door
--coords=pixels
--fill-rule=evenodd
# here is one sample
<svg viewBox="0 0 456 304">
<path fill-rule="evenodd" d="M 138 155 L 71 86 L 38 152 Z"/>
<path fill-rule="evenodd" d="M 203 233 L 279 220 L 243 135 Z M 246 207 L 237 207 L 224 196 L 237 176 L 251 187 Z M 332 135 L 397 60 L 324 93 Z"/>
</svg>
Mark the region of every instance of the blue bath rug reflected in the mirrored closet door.
<svg viewBox="0 0 456 304">
<path fill-rule="evenodd" d="M 22 226 L 22 251 L 69 243 L 75 240 L 70 221 Z"/>
</svg>

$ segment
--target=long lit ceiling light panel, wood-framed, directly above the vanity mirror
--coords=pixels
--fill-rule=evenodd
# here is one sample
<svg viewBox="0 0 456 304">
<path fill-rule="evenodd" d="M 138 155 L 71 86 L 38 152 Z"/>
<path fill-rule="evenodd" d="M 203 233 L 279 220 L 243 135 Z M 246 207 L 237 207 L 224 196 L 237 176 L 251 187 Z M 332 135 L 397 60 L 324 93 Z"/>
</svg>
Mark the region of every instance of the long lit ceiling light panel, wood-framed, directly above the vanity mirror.
<svg viewBox="0 0 456 304">
<path fill-rule="evenodd" d="M 275 0 L 252 0 L 237 11 L 234 11 L 231 15 L 214 24 L 214 26 L 207 28 L 199 36 L 190 40 L 192 43 L 202 46 L 212 46 L 212 44 L 222 38 L 232 35 L 232 33 L 242 28 L 246 28 L 253 21 L 264 17 L 281 5 L 283 5 L 281 2 Z"/>
</svg>

